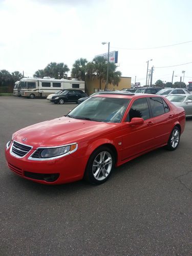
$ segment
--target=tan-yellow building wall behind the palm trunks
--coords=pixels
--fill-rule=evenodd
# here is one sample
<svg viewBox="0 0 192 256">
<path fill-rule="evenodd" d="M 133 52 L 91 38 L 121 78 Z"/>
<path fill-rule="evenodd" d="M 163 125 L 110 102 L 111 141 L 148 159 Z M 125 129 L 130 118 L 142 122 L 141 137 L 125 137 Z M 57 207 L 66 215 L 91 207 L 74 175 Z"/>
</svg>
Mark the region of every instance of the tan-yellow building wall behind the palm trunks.
<svg viewBox="0 0 192 256">
<path fill-rule="evenodd" d="M 104 90 L 105 82 L 101 83 L 101 90 Z M 131 88 L 131 77 L 120 77 L 120 81 L 118 86 L 114 86 L 113 84 L 108 84 L 108 90 L 121 90 L 123 88 Z M 99 79 L 98 78 L 86 78 L 86 92 L 88 95 L 93 94 L 96 90 L 99 89 Z"/>
</svg>

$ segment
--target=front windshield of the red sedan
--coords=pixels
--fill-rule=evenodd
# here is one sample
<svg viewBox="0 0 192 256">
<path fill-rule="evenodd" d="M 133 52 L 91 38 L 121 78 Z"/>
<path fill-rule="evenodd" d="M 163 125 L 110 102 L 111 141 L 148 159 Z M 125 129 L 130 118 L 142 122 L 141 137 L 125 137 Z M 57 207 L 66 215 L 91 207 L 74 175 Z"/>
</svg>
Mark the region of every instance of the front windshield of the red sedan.
<svg viewBox="0 0 192 256">
<path fill-rule="evenodd" d="M 83 101 L 67 116 L 98 122 L 119 123 L 130 99 L 90 97 Z"/>
</svg>

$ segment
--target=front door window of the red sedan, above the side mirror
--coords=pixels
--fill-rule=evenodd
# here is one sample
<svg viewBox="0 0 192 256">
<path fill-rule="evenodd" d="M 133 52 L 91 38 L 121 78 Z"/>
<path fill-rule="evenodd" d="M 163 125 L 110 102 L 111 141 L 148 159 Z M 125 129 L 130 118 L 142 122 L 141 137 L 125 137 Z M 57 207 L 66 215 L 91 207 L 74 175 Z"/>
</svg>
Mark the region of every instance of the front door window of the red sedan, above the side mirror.
<svg viewBox="0 0 192 256">
<path fill-rule="evenodd" d="M 133 117 L 141 117 L 144 120 L 150 118 L 150 111 L 148 109 L 146 98 L 136 99 L 133 102 L 126 121 L 130 122 Z"/>
</svg>

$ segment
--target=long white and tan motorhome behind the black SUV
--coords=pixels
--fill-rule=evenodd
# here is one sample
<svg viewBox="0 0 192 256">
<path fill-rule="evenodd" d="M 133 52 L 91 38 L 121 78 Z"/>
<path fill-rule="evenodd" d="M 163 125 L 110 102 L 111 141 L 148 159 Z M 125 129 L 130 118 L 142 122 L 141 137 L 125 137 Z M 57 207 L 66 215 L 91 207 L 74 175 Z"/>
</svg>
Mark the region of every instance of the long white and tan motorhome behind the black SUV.
<svg viewBox="0 0 192 256">
<path fill-rule="evenodd" d="M 51 77 L 44 78 L 22 78 L 19 81 L 18 91 L 24 97 L 47 97 L 58 90 L 63 89 L 80 89 L 84 92 L 84 81 L 54 79 Z M 18 92 L 19 93 L 19 92 Z"/>
</svg>

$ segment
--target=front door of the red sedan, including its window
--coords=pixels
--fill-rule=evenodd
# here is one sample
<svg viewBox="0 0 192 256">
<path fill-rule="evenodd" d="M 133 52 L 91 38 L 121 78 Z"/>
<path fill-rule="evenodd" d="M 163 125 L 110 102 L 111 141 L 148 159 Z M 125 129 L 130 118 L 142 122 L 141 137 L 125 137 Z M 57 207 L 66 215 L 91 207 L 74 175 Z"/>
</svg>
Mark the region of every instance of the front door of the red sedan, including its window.
<svg viewBox="0 0 192 256">
<path fill-rule="evenodd" d="M 144 123 L 135 126 L 131 126 L 129 123 L 127 124 L 133 117 L 143 118 Z M 151 117 L 146 97 L 136 99 L 132 103 L 122 127 L 122 161 L 154 147 L 154 120 Z"/>
</svg>

